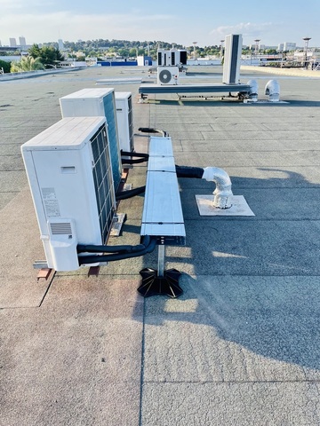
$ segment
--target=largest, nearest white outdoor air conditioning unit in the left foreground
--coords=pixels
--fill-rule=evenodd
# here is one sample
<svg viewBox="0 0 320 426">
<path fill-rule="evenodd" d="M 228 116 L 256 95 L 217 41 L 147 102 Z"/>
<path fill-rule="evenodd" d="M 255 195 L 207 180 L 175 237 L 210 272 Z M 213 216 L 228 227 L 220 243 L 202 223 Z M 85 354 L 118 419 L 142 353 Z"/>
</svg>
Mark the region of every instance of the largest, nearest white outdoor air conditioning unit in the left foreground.
<svg viewBox="0 0 320 426">
<path fill-rule="evenodd" d="M 21 146 L 49 268 L 79 268 L 77 244 L 105 244 L 116 211 L 105 117 L 63 118 Z"/>
</svg>

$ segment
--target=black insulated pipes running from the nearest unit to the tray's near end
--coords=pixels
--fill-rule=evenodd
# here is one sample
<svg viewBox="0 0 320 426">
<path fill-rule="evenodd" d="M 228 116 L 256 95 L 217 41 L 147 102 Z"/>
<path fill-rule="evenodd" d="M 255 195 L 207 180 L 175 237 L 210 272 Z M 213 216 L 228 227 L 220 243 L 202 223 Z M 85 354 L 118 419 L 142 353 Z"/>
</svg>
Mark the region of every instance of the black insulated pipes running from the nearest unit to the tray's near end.
<svg viewBox="0 0 320 426">
<path fill-rule="evenodd" d="M 78 256 L 79 265 L 80 264 L 96 264 L 101 262 L 114 262 L 117 260 L 129 259 L 131 257 L 139 257 L 151 253 L 156 248 L 156 239 L 151 239 L 148 235 L 144 238 L 143 244 L 139 246 L 129 246 L 132 248 L 132 251 L 121 251 L 125 246 L 119 246 L 120 252 L 114 253 L 111 255 L 88 255 L 88 256 Z M 77 249 L 84 248 L 86 246 L 79 245 Z M 88 248 L 93 248 L 94 246 L 87 246 Z M 96 246 L 100 250 L 95 249 L 95 253 L 107 253 L 108 246 Z M 118 248 L 118 249 L 119 249 Z M 134 248 L 140 248 L 135 250 Z"/>
</svg>

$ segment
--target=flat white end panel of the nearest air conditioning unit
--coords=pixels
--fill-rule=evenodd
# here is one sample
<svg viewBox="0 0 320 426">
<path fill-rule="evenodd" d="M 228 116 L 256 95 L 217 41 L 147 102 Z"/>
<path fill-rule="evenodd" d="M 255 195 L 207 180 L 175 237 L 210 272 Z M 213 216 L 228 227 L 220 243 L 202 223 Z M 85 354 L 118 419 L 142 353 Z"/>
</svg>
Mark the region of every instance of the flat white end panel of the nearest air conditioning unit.
<svg viewBox="0 0 320 426">
<path fill-rule="evenodd" d="M 88 149 L 73 151 L 68 157 L 61 151 L 34 151 L 32 156 L 43 205 L 38 214 L 41 232 L 52 219 L 72 217 L 79 243 L 100 244 L 93 177 L 86 170 L 91 163 Z"/>
</svg>

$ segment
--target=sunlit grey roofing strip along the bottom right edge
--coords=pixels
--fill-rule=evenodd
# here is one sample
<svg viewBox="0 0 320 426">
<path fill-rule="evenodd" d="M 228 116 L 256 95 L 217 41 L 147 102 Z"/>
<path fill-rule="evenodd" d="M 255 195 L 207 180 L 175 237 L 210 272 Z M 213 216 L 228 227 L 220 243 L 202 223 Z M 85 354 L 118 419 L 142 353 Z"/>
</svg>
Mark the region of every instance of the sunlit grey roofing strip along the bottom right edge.
<svg viewBox="0 0 320 426">
<path fill-rule="evenodd" d="M 319 422 L 316 383 L 147 383 L 142 424 L 310 426 Z"/>
</svg>

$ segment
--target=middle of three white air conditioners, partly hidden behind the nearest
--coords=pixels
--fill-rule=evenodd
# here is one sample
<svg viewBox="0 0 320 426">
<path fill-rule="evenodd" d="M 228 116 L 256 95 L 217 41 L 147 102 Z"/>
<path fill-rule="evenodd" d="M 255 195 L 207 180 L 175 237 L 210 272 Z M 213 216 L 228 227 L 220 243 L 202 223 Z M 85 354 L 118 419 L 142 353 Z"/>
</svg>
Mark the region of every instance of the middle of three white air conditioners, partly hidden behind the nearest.
<svg viewBox="0 0 320 426">
<path fill-rule="evenodd" d="M 76 91 L 60 98 L 62 117 L 105 116 L 115 191 L 121 181 L 122 163 L 116 126 L 116 99 L 114 89 L 93 88 Z"/>
</svg>

